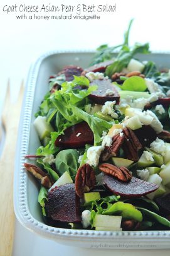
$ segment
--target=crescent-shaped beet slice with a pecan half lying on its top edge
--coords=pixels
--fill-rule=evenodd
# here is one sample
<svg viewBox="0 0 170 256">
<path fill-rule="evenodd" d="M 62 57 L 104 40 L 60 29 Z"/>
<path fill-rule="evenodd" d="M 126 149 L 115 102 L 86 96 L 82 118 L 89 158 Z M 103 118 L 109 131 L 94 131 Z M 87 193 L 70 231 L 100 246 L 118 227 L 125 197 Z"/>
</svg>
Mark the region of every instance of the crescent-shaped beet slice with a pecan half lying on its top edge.
<svg viewBox="0 0 170 256">
<path fill-rule="evenodd" d="M 109 175 L 104 175 L 104 183 L 115 195 L 126 198 L 141 197 L 155 191 L 159 187 L 154 183 L 145 182 L 135 177 L 132 177 L 130 182 L 124 183 Z"/>
</svg>

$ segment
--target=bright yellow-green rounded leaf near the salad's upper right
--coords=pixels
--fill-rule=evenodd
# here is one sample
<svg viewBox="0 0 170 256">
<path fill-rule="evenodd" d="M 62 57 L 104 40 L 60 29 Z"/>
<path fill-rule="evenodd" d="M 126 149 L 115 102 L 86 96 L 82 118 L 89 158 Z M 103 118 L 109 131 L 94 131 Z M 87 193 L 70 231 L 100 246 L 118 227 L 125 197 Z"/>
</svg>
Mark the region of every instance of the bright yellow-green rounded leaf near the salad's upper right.
<svg viewBox="0 0 170 256">
<path fill-rule="evenodd" d="M 140 76 L 131 76 L 125 79 L 122 85 L 119 85 L 122 90 L 126 91 L 146 91 L 146 81 Z"/>
</svg>

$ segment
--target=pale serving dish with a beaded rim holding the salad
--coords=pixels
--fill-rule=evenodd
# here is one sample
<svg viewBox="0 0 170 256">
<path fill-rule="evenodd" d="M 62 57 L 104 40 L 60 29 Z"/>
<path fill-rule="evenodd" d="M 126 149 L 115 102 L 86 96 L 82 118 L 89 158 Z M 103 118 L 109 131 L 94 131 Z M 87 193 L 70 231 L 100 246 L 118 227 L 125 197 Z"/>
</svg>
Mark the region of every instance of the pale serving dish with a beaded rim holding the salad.
<svg viewBox="0 0 170 256">
<path fill-rule="evenodd" d="M 40 141 L 33 127 L 34 113 L 48 91 L 48 78 L 63 66 L 75 64 L 87 67 L 93 52 L 50 52 L 31 66 L 19 125 L 18 148 L 14 172 L 14 211 L 19 222 L 38 235 L 65 245 L 89 248 L 156 249 L 170 248 L 170 231 L 92 231 L 53 228 L 43 223 L 37 201 L 38 186 L 35 179 L 25 172 L 26 154 L 35 154 Z M 152 60 L 160 68 L 170 67 L 170 54 L 139 55 L 139 59 Z"/>
</svg>

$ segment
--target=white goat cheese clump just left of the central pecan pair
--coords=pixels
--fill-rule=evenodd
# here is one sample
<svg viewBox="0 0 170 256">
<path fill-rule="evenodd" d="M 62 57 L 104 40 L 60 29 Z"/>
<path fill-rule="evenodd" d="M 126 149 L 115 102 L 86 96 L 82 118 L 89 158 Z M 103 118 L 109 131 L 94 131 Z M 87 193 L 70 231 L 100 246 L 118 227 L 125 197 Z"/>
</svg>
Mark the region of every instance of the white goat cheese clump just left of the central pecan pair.
<svg viewBox="0 0 170 256">
<path fill-rule="evenodd" d="M 87 150 L 87 163 L 89 165 L 97 166 L 100 158 L 100 154 L 104 148 L 102 146 L 92 146 Z"/>
</svg>

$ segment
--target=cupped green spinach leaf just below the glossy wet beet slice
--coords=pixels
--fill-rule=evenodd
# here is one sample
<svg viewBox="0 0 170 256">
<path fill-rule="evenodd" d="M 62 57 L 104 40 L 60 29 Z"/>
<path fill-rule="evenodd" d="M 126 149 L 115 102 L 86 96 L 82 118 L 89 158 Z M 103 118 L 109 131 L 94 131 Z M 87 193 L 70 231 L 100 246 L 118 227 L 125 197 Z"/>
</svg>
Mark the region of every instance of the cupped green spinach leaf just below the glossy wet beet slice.
<svg viewBox="0 0 170 256">
<path fill-rule="evenodd" d="M 56 155 L 55 166 L 56 170 L 61 176 L 64 172 L 68 172 L 73 180 L 78 169 L 78 157 L 79 154 L 75 149 L 61 150 Z"/>
</svg>

